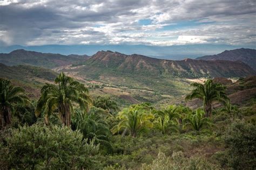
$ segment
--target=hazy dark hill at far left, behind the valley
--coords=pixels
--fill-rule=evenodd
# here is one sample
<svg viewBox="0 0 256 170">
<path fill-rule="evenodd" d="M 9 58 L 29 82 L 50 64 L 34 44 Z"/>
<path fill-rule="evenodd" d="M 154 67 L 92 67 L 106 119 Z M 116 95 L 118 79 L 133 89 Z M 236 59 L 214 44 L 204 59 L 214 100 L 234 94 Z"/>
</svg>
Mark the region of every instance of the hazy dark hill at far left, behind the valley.
<svg viewBox="0 0 256 170">
<path fill-rule="evenodd" d="M 83 62 L 87 55 L 61 55 L 52 53 L 39 53 L 17 49 L 8 54 L 0 54 L 0 63 L 8 66 L 31 65 L 45 68 L 55 68 L 72 63 Z"/>
</svg>

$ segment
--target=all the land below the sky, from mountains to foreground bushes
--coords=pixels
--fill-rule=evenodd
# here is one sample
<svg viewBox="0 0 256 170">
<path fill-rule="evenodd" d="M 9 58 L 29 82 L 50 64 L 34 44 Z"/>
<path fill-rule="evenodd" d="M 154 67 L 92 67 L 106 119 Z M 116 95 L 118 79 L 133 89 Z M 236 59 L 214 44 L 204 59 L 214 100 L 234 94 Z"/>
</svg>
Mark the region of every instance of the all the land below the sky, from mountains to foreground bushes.
<svg viewBox="0 0 256 170">
<path fill-rule="evenodd" d="M 256 168 L 256 76 L 245 63 L 1 55 L 3 169 Z"/>
</svg>

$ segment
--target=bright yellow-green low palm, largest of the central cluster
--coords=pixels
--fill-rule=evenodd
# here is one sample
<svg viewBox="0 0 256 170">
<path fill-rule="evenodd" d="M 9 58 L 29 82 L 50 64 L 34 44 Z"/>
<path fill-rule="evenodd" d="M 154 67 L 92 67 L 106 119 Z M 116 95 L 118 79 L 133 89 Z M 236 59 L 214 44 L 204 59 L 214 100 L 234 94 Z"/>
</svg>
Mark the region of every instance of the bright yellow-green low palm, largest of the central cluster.
<svg viewBox="0 0 256 170">
<path fill-rule="evenodd" d="M 153 127 L 151 120 L 154 116 L 151 114 L 151 111 L 143 109 L 143 106 L 140 104 L 123 109 L 123 111 L 118 113 L 117 118 L 120 119 L 121 122 L 111 129 L 113 134 L 117 133 L 119 130 L 125 129 L 125 132 L 129 130 L 130 135 L 134 138 L 141 128 Z"/>
</svg>

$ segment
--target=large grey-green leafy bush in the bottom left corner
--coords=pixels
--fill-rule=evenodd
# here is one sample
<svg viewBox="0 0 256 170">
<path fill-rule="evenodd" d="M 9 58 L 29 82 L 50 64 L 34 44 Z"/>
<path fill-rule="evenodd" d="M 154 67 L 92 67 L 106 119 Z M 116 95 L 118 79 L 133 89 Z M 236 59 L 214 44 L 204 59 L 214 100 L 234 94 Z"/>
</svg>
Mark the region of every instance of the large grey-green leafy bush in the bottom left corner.
<svg viewBox="0 0 256 170">
<path fill-rule="evenodd" d="M 0 163 L 5 169 L 90 168 L 97 152 L 78 131 L 34 124 L 11 129 L 0 144 Z"/>
</svg>

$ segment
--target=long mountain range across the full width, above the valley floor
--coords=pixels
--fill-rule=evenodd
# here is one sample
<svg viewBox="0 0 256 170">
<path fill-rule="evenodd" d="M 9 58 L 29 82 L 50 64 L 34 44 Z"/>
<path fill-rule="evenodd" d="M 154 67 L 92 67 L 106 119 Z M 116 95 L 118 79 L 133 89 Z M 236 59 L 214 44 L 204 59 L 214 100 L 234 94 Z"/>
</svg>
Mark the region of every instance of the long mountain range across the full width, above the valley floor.
<svg viewBox="0 0 256 170">
<path fill-rule="evenodd" d="M 244 51 L 244 49 L 239 49 Z M 253 59 L 254 49 L 246 49 L 247 58 Z M 233 51 L 225 51 L 227 53 Z M 241 54 L 240 52 L 239 54 Z M 229 56 L 232 56 L 232 55 Z M 235 53 L 236 54 L 236 53 Z M 226 56 L 225 55 L 225 56 Z M 241 59 L 242 55 L 240 55 Z M 200 58 L 201 59 L 201 58 Z M 226 59 L 226 58 L 224 58 Z M 234 59 L 235 60 L 235 59 Z M 0 54 L 0 63 L 8 66 L 32 65 L 45 68 L 69 66 L 80 74 L 92 77 L 98 76 L 167 76 L 167 77 L 244 77 L 255 75 L 256 71 L 246 65 L 244 60 L 164 60 L 150 58 L 144 55 L 126 55 L 112 51 L 99 51 L 92 56 L 87 55 L 61 55 L 52 53 L 39 53 L 18 49 L 8 54 Z M 252 60 L 250 65 L 254 65 Z M 76 67 L 74 67 L 76 66 Z M 79 66 L 79 67 L 77 67 Z"/>
</svg>

